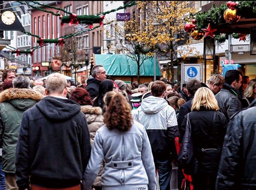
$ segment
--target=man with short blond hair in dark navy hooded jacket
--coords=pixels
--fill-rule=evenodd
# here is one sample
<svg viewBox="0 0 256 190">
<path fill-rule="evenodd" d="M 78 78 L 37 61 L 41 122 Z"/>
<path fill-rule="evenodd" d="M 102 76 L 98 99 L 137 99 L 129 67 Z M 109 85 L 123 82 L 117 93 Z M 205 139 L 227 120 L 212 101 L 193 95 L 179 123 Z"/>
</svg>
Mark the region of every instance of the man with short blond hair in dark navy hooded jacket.
<svg viewBox="0 0 256 190">
<path fill-rule="evenodd" d="M 19 190 L 79 190 L 90 158 L 90 134 L 78 103 L 66 98 L 67 80 L 59 73 L 46 80 L 47 97 L 23 113 L 16 150 Z"/>
</svg>

